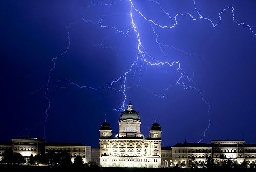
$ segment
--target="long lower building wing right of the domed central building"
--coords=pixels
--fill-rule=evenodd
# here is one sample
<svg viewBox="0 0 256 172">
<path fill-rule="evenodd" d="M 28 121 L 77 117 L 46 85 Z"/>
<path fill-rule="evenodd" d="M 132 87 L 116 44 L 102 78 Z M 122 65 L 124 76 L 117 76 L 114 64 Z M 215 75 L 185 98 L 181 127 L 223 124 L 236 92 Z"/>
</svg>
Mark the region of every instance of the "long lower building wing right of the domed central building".
<svg viewBox="0 0 256 172">
<path fill-rule="evenodd" d="M 178 143 L 172 147 L 162 147 L 161 166 L 172 167 L 176 164 L 188 168 L 191 160 L 205 162 L 206 157 L 212 157 L 215 162 L 222 163 L 231 159 L 234 163 L 256 162 L 256 144 L 245 144 L 244 140 L 212 140 L 205 143 Z"/>
</svg>

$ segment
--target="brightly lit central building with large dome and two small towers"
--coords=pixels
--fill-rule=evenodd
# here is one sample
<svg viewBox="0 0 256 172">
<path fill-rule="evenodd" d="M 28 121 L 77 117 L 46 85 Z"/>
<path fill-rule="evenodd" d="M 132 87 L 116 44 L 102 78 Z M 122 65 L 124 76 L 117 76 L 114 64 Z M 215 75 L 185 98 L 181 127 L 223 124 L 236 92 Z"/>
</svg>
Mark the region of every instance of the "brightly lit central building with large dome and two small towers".
<svg viewBox="0 0 256 172">
<path fill-rule="evenodd" d="M 100 158 L 102 167 L 161 167 L 161 126 L 153 123 L 150 136 L 140 132 L 139 113 L 128 104 L 128 109 L 121 113 L 119 132 L 112 137 L 110 124 L 100 127 Z"/>
</svg>

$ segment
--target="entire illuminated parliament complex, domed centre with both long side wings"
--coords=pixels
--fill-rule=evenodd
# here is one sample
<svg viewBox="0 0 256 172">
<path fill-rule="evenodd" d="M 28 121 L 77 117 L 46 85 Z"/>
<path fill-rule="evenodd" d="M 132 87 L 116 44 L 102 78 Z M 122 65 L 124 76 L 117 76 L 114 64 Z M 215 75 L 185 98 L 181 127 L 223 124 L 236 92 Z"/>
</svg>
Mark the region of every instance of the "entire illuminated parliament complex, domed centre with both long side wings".
<svg viewBox="0 0 256 172">
<path fill-rule="evenodd" d="M 6 149 L 12 149 L 24 157 L 49 151 L 68 152 L 72 161 L 80 155 L 85 163 L 95 161 L 102 167 L 167 168 L 178 164 L 188 168 L 190 160 L 205 162 L 206 157 L 220 163 L 227 159 L 238 164 L 256 162 L 256 144 L 246 144 L 244 140 L 212 140 L 210 144 L 185 141 L 163 147 L 161 126 L 153 123 L 149 137 L 145 137 L 140 131 L 139 113 L 133 110 L 131 103 L 121 113 L 118 123 L 119 132 L 115 136 L 109 123 L 101 124 L 98 148 L 82 143 L 47 143 L 38 138 L 16 138 L 10 143 L 0 142 L 0 159 Z"/>
</svg>

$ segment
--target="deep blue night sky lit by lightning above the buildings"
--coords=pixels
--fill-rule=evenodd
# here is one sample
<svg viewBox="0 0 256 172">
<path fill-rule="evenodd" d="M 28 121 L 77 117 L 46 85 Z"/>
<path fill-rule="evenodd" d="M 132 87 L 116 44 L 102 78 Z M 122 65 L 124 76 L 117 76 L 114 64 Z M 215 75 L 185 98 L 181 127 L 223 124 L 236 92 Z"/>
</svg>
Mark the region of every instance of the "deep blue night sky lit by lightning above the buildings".
<svg viewBox="0 0 256 172">
<path fill-rule="evenodd" d="M 209 115 L 201 142 L 256 143 L 256 1 L 132 3 L 1 1 L 2 141 L 97 147 L 131 101 L 162 146 L 198 142 Z"/>
</svg>

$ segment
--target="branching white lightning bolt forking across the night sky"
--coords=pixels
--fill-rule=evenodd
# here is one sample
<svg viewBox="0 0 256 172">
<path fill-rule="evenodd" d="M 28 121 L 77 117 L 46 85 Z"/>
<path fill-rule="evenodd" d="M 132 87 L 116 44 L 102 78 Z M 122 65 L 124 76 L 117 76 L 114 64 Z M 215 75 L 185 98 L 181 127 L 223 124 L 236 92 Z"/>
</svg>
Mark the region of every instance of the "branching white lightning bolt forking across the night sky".
<svg viewBox="0 0 256 172">
<path fill-rule="evenodd" d="M 135 7 L 135 5 L 133 4 L 133 1 L 132 0 L 126 0 L 125 2 L 128 2 L 130 5 L 130 17 L 131 17 L 131 26 L 127 27 L 127 30 L 126 31 L 122 31 L 120 29 L 118 29 L 117 27 L 112 27 L 112 26 L 108 26 L 108 25 L 103 25 L 103 22 L 104 22 L 104 19 L 105 18 L 102 18 L 100 20 L 98 20 L 97 22 L 94 22 L 92 20 L 87 20 L 87 19 L 84 19 L 84 18 L 81 18 L 79 20 L 82 20 L 83 22 L 86 22 L 86 23 L 91 23 L 93 25 L 99 25 L 101 28 L 105 28 L 105 29 L 111 29 L 111 30 L 115 30 L 117 33 L 120 33 L 120 34 L 123 34 L 123 35 L 128 35 L 130 34 L 130 31 L 132 30 L 135 35 L 136 35 L 136 38 L 137 38 L 137 56 L 136 56 L 136 59 L 131 63 L 131 66 L 129 67 L 129 69 L 120 77 L 114 79 L 112 82 L 106 84 L 106 86 L 99 86 L 99 87 L 90 87 L 90 86 L 86 86 L 86 85 L 78 85 L 76 83 L 74 83 L 73 81 L 71 80 L 57 80 L 57 81 L 51 81 L 51 74 L 52 72 L 54 71 L 55 67 L 56 67 L 56 59 L 65 55 L 68 50 L 69 50 L 69 46 L 70 46 L 70 32 L 69 32 L 69 28 L 71 25 L 73 24 L 76 24 L 79 20 L 77 20 L 76 22 L 73 22 L 73 23 L 70 23 L 68 26 L 67 26 L 67 34 L 68 34 L 68 45 L 66 47 L 66 50 L 64 52 L 62 52 L 61 54 L 57 55 L 56 57 L 52 58 L 52 62 L 53 62 L 53 67 L 49 70 L 49 76 L 48 76 L 48 79 L 47 79 L 47 83 L 44 85 L 44 87 L 46 87 L 46 91 L 45 91 L 45 98 L 48 102 L 48 106 L 45 110 L 45 114 L 46 114 L 46 118 L 44 120 L 44 138 L 46 138 L 46 135 L 45 135 L 45 124 L 47 122 L 47 118 L 48 118 L 48 111 L 51 107 L 51 102 L 50 102 L 50 99 L 48 98 L 48 94 L 49 94 L 49 85 L 51 83 L 59 83 L 59 82 L 67 82 L 67 85 L 66 87 L 58 87 L 58 89 L 63 89 L 63 88 L 68 88 L 70 87 L 70 85 L 74 85 L 78 88 L 81 88 L 81 89 L 93 89 L 93 90 L 99 90 L 99 89 L 112 89 L 114 90 L 116 93 L 122 93 L 123 96 L 124 96 L 124 100 L 121 104 L 121 107 L 115 109 L 116 111 L 124 111 L 125 110 L 125 102 L 126 102 L 126 99 L 127 99 L 127 95 L 126 95 L 126 89 L 129 88 L 126 84 L 126 81 L 127 81 L 127 74 L 130 74 L 132 72 L 132 70 L 134 69 L 134 74 L 133 76 L 135 75 L 135 72 L 138 70 L 138 63 L 140 62 L 140 75 L 141 75 L 141 67 L 142 65 L 151 65 L 151 66 L 157 66 L 159 68 L 163 67 L 163 66 L 168 66 L 168 67 L 177 67 L 177 72 L 180 74 L 180 77 L 179 79 L 177 80 L 177 83 L 176 84 L 170 84 L 167 88 L 165 88 L 164 90 L 162 90 L 162 93 L 163 95 L 158 95 L 156 94 L 155 92 L 152 92 L 153 95 L 155 96 L 158 96 L 158 97 L 161 97 L 161 98 L 164 98 L 165 95 L 164 95 L 164 92 L 167 91 L 170 87 L 173 87 L 174 85 L 182 85 L 182 87 L 186 90 L 186 89 L 194 89 L 196 90 L 200 96 L 201 96 L 201 99 L 202 101 L 207 105 L 208 109 L 207 109 L 207 115 L 208 115 L 208 125 L 207 127 L 205 128 L 204 130 L 204 133 L 203 133 L 203 137 L 199 140 L 199 142 L 201 142 L 205 136 L 206 136 L 206 131 L 209 129 L 210 127 L 210 104 L 206 101 L 206 99 L 204 98 L 202 92 L 200 89 L 196 88 L 196 87 L 193 87 L 191 85 L 185 85 L 184 82 L 181 81 L 181 79 L 183 77 L 185 77 L 187 79 L 187 81 L 190 81 L 191 78 L 188 77 L 188 75 L 186 74 L 186 72 L 181 68 L 181 65 L 180 65 L 180 62 L 179 61 L 173 61 L 173 62 L 169 62 L 168 61 L 168 58 L 166 56 L 166 53 L 163 51 L 162 47 L 161 46 L 165 46 L 165 47 L 170 47 L 170 48 L 174 48 L 182 53 L 185 53 L 186 55 L 196 55 L 196 54 L 189 54 L 189 53 L 186 53 L 184 50 L 180 50 L 172 45 L 166 45 L 166 44 L 162 44 L 161 42 L 158 41 L 158 34 L 155 32 L 154 30 L 154 27 L 159 27 L 161 29 L 172 29 L 174 28 L 178 22 L 177 22 L 177 18 L 181 15 L 188 15 L 191 17 L 192 20 L 207 20 L 208 22 L 210 22 L 212 24 L 212 27 L 216 27 L 218 25 L 221 24 L 221 15 L 224 11 L 228 10 L 228 9 L 231 9 L 232 10 L 232 14 L 233 14 L 233 22 L 236 23 L 237 25 L 242 25 L 246 28 L 249 28 L 250 29 L 250 32 L 252 32 L 252 34 L 256 35 L 253 31 L 252 31 L 252 28 L 250 25 L 246 25 L 244 23 L 239 23 L 235 20 L 235 15 L 234 15 L 234 8 L 233 7 L 227 7 L 225 9 L 223 9 L 220 13 L 219 13 L 219 22 L 214 24 L 214 22 L 212 22 L 211 19 L 209 18 L 206 18 L 206 17 L 203 17 L 199 11 L 197 10 L 196 8 L 196 3 L 194 0 L 192 0 L 194 2 L 194 10 L 197 12 L 197 17 L 194 17 L 193 15 L 191 15 L 190 13 L 178 13 L 176 14 L 175 16 L 171 16 L 168 12 L 166 12 L 166 10 L 161 6 L 161 4 L 157 1 L 154 1 L 154 0 L 150 0 L 150 2 L 156 4 L 161 10 L 162 12 L 165 14 L 165 15 L 168 15 L 169 19 L 170 20 L 174 20 L 174 24 L 172 25 L 169 25 L 169 26 L 165 26 L 165 25 L 161 25 L 160 23 L 157 23 L 157 22 L 154 22 L 152 19 L 149 19 L 147 18 L 138 8 Z M 101 3 L 101 2 L 96 2 L 96 3 L 93 3 L 91 1 L 91 5 L 88 6 L 87 8 L 92 8 L 92 7 L 95 7 L 95 6 L 113 6 L 113 5 L 116 5 L 117 3 L 120 3 L 122 2 L 121 0 L 119 1 L 115 1 L 113 3 L 108 3 L 108 4 L 104 4 L 104 3 Z M 142 44 L 142 41 L 141 41 L 141 37 L 140 37 L 140 33 L 139 31 L 137 30 L 137 27 L 136 27 L 136 22 L 135 22 L 135 19 L 134 19 L 134 16 L 133 14 L 135 13 L 138 13 L 146 22 L 150 23 L 151 27 L 152 27 L 152 31 L 154 32 L 154 34 L 156 35 L 156 44 L 159 46 L 160 50 L 161 50 L 161 53 L 164 55 L 166 61 L 158 61 L 155 57 L 151 57 L 145 47 L 143 46 Z M 104 38 L 105 39 L 105 38 Z M 103 39 L 103 40 L 104 40 Z M 106 45 L 103 45 L 103 40 L 101 42 L 101 44 L 98 44 L 97 46 L 103 46 L 105 48 L 112 48 L 110 46 L 106 46 Z M 150 57 L 154 62 L 151 61 L 151 59 L 148 59 L 147 57 Z M 162 69 L 162 68 L 161 68 Z M 163 70 L 163 69 L 162 69 Z M 164 71 L 164 70 L 163 70 Z M 141 77 L 141 76 L 140 76 Z M 115 84 L 119 83 L 120 82 L 120 87 L 116 88 Z M 139 85 L 135 85 L 136 87 L 138 87 Z M 39 88 L 39 89 L 42 89 Z M 38 90 L 39 90 L 38 89 Z M 37 90 L 36 90 L 37 91 Z M 34 93 L 34 92 L 33 92 Z"/>
</svg>

